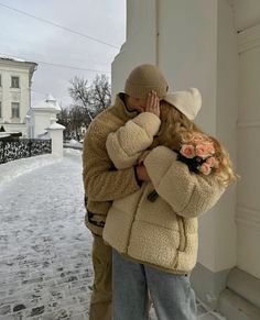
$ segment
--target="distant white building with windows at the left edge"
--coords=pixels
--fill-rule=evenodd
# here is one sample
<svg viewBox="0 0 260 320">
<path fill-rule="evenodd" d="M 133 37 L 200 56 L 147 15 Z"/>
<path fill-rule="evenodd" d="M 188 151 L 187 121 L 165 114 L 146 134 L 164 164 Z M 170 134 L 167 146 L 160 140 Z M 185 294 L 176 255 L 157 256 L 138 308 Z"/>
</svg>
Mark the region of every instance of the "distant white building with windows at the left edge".
<svg viewBox="0 0 260 320">
<path fill-rule="evenodd" d="M 26 135 L 32 77 L 37 64 L 0 56 L 0 126 Z"/>
</svg>

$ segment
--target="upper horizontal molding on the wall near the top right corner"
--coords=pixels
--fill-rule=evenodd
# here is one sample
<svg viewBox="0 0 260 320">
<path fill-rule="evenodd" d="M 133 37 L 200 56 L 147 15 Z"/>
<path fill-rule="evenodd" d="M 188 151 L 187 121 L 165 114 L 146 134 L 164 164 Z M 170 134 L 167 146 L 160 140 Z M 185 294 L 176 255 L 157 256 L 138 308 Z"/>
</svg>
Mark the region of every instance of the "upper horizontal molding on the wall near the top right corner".
<svg viewBox="0 0 260 320">
<path fill-rule="evenodd" d="M 238 53 L 260 46 L 260 24 L 237 34 Z"/>
</svg>

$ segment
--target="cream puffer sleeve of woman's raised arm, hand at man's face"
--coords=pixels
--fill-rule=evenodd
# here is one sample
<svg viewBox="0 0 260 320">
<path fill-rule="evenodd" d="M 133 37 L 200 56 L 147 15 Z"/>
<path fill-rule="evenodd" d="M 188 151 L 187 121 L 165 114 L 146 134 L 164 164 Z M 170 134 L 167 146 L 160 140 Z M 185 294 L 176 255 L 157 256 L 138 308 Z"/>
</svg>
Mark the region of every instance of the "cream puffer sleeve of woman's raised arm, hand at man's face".
<svg viewBox="0 0 260 320">
<path fill-rule="evenodd" d="M 111 132 L 106 146 L 116 168 L 123 169 L 133 166 L 141 153 L 152 144 L 160 125 L 159 117 L 151 112 L 143 112 L 129 120 L 116 132 Z"/>
</svg>

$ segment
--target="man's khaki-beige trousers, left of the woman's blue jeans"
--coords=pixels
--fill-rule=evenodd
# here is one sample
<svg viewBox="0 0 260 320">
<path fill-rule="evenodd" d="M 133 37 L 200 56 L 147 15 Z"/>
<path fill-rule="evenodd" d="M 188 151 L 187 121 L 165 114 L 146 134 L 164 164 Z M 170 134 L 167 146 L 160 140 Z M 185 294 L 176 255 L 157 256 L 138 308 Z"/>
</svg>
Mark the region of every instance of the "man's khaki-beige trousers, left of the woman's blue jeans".
<svg viewBox="0 0 260 320">
<path fill-rule="evenodd" d="M 94 235 L 93 267 L 94 286 L 90 299 L 89 320 L 111 320 L 112 250 L 98 235 Z"/>
</svg>

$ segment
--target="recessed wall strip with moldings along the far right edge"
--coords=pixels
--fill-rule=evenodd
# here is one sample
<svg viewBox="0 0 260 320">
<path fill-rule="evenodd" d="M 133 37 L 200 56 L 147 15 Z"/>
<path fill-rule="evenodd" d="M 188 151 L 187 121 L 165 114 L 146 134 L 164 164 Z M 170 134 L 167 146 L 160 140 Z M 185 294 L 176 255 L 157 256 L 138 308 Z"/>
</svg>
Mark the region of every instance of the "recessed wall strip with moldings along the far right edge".
<svg viewBox="0 0 260 320">
<path fill-rule="evenodd" d="M 246 5 L 247 4 L 247 5 Z M 260 278 L 260 1 L 236 2 L 239 52 L 238 266 Z M 254 251 L 257 250 L 257 251 Z"/>
</svg>

